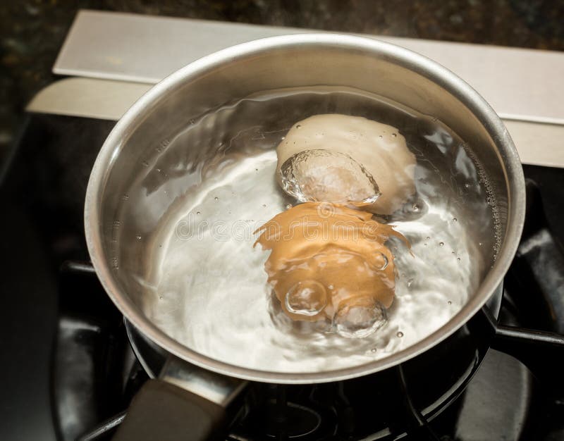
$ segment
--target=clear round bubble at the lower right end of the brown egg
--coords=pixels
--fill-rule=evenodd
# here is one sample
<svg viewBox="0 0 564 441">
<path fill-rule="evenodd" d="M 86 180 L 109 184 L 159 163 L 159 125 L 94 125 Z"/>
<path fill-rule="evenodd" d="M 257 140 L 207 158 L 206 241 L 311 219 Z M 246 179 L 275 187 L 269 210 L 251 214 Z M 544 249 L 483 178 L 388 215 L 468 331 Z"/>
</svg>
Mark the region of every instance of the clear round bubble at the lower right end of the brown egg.
<svg viewBox="0 0 564 441">
<path fill-rule="evenodd" d="M 386 310 L 381 304 L 372 299 L 364 300 L 339 306 L 333 323 L 342 337 L 368 337 L 386 323 Z"/>
</svg>

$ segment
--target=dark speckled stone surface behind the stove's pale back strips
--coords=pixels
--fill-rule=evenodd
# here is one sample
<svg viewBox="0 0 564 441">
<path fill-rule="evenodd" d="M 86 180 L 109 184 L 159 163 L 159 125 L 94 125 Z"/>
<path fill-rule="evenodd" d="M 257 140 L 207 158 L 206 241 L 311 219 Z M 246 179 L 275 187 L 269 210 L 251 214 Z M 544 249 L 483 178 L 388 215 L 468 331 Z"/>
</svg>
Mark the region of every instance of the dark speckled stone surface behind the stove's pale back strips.
<svg viewBox="0 0 564 441">
<path fill-rule="evenodd" d="M 3 0 L 0 159 L 78 8 L 564 51 L 563 0 Z"/>
</svg>

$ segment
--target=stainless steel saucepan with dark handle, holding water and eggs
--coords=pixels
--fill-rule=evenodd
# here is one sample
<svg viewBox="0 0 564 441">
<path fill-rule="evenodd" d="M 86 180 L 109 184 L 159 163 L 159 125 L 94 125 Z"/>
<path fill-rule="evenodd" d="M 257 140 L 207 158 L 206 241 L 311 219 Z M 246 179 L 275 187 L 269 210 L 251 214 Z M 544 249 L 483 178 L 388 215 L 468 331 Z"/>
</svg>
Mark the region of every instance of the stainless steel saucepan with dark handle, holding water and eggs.
<svg viewBox="0 0 564 441">
<path fill-rule="evenodd" d="M 304 373 L 262 371 L 212 359 L 154 323 L 147 309 L 148 288 L 140 280 L 140 275 L 154 270 L 154 251 L 149 249 L 155 248 L 157 226 L 183 192 L 198 184 L 190 173 L 222 152 L 220 144 L 186 144 L 179 159 L 178 155 L 167 155 L 170 139 L 190 120 L 238 99 L 267 90 L 319 85 L 360 89 L 396 101 L 438 118 L 464 139 L 495 194 L 501 247 L 495 261 L 487 262 L 491 268 L 479 287 L 448 323 L 384 359 Z M 159 189 L 165 183 L 178 197 L 162 197 Z M 123 206 L 132 203 L 127 217 Z M 462 360 L 466 367 L 471 366 L 470 370 L 451 366 L 460 381 L 453 381 L 446 389 L 460 389 L 488 346 L 486 340 L 472 334 L 470 319 L 486 302 L 494 316 L 498 313 L 503 276 L 517 249 L 524 217 L 522 168 L 503 123 L 472 87 L 428 58 L 374 39 L 307 34 L 240 44 L 185 66 L 147 92 L 117 123 L 99 153 L 87 189 L 85 230 L 97 275 L 137 332 L 168 356 L 160 379 L 145 385 L 134 399 L 116 439 L 217 436 L 226 420 L 225 407 L 247 381 L 332 382 L 377 375 L 394 366 L 405 366 L 407 374 L 411 369 L 424 375 L 439 372 L 439 363 L 444 364 L 444 357 L 448 357 L 458 360 L 453 364 Z M 135 229 L 130 227 L 133 223 Z M 170 313 L 171 321 L 178 320 L 176 317 Z M 461 351 L 465 356 L 460 356 Z"/>
</svg>

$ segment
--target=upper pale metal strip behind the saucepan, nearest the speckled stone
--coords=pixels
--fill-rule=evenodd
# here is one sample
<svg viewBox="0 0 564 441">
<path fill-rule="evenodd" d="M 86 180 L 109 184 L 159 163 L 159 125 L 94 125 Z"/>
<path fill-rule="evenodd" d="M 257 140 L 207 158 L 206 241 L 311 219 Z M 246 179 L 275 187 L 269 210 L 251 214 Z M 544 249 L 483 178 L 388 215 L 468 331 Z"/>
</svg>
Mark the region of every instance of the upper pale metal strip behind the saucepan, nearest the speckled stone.
<svg viewBox="0 0 564 441">
<path fill-rule="evenodd" d="M 79 11 L 54 73 L 156 83 L 233 44 L 317 32 L 130 13 Z M 427 56 L 466 80 L 501 116 L 564 123 L 564 54 L 556 51 L 364 35 Z M 165 49 L 164 49 L 165 48 Z"/>
</svg>

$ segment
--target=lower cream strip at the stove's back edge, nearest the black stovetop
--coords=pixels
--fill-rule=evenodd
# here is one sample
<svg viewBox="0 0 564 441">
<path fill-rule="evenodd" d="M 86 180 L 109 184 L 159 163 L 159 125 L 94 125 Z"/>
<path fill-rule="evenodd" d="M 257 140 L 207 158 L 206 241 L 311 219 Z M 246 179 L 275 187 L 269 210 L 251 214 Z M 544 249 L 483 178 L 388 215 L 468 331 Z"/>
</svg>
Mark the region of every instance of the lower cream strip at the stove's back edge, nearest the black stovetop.
<svg viewBox="0 0 564 441">
<path fill-rule="evenodd" d="M 116 121 L 151 87 L 138 82 L 65 78 L 39 91 L 26 110 Z M 564 124 L 501 118 L 522 163 L 564 168 Z"/>
</svg>

